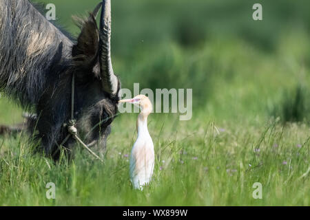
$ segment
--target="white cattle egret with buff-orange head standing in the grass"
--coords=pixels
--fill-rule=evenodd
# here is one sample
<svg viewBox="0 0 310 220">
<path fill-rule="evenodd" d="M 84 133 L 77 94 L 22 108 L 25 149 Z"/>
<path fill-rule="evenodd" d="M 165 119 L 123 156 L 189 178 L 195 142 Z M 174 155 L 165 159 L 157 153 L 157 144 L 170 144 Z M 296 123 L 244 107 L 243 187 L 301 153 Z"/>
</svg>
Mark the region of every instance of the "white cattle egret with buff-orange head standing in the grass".
<svg viewBox="0 0 310 220">
<path fill-rule="evenodd" d="M 147 130 L 147 116 L 152 112 L 152 103 L 144 95 L 119 102 L 136 104 L 141 109 L 136 120 L 138 137 L 130 154 L 130 180 L 134 188 L 143 190 L 143 186 L 151 180 L 154 169 L 154 145 Z"/>
</svg>

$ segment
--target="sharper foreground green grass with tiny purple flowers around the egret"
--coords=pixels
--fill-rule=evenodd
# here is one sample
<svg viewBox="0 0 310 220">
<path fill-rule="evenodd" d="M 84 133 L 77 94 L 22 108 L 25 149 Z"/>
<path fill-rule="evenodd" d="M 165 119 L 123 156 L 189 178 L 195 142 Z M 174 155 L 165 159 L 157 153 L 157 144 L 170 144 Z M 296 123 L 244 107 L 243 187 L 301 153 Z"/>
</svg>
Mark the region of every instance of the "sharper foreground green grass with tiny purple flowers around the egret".
<svg viewBox="0 0 310 220">
<path fill-rule="evenodd" d="M 152 184 L 143 192 L 130 185 L 125 157 L 134 141 L 135 117 L 116 119 L 103 164 L 81 147 L 71 162 L 63 159 L 54 164 L 32 155 L 25 138 L 6 137 L 1 144 L 0 203 L 309 206 L 309 126 L 217 122 L 199 116 L 191 122 L 150 116 L 156 164 Z M 56 184 L 55 200 L 45 197 L 48 182 Z M 255 182 L 262 184 L 262 199 L 252 197 Z"/>
</svg>

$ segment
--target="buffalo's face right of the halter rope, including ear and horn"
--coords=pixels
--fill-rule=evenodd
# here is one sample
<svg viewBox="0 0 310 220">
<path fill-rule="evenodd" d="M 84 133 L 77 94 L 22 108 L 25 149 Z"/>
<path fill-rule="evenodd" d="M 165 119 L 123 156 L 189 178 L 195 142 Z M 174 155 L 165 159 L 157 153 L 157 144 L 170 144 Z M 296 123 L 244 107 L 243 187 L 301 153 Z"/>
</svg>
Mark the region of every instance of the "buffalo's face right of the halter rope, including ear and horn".
<svg viewBox="0 0 310 220">
<path fill-rule="evenodd" d="M 101 8 L 100 27 L 96 15 Z M 79 21 L 81 34 L 72 48 L 76 80 L 76 115 L 86 142 L 105 140 L 119 99 L 121 83 L 111 61 L 111 3 L 103 1 L 87 20 Z"/>
</svg>

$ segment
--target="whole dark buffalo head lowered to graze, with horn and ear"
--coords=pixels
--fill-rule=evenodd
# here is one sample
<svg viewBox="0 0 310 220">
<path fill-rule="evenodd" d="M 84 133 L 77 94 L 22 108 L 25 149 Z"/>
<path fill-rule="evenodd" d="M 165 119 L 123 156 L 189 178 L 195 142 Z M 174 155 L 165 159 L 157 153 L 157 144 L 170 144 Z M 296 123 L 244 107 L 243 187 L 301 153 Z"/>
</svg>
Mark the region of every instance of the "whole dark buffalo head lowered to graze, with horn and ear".
<svg viewBox="0 0 310 220">
<path fill-rule="evenodd" d="M 96 15 L 100 8 L 98 27 Z M 59 75 L 58 83 L 46 89 L 37 108 L 38 122 L 34 125 L 39 131 L 45 153 L 56 153 L 56 157 L 59 145 L 68 135 L 72 92 L 78 135 L 85 144 L 97 144 L 99 148 L 104 148 L 110 124 L 117 113 L 121 89 L 111 61 L 110 0 L 103 0 L 87 19 L 78 19 L 78 25 L 81 34 L 72 46 L 70 67 L 65 74 Z M 58 50 L 59 54 L 63 54 L 62 43 Z M 71 87 L 73 75 L 74 91 Z M 63 146 L 70 148 L 73 143 L 74 139 L 70 138 Z"/>
</svg>

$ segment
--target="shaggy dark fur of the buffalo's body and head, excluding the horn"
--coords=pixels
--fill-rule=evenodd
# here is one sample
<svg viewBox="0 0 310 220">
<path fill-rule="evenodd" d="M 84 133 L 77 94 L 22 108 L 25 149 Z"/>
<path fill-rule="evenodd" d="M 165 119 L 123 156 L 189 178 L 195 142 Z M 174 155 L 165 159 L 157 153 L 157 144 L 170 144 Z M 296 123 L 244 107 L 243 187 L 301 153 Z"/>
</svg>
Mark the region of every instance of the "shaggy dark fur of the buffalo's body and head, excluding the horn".
<svg viewBox="0 0 310 220">
<path fill-rule="evenodd" d="M 68 130 L 71 82 L 76 74 L 74 118 L 86 143 L 99 141 L 104 148 L 110 123 L 117 111 L 118 92 L 102 89 L 99 45 L 94 15 L 81 21 L 74 45 L 28 0 L 0 0 L 0 87 L 26 109 L 35 109 L 41 149 L 59 156 L 58 146 Z M 73 50 L 73 51 L 72 51 Z M 118 81 L 118 91 L 121 85 Z M 88 134 L 88 135 L 85 135 Z M 70 148 L 74 140 L 65 144 Z"/>
</svg>

